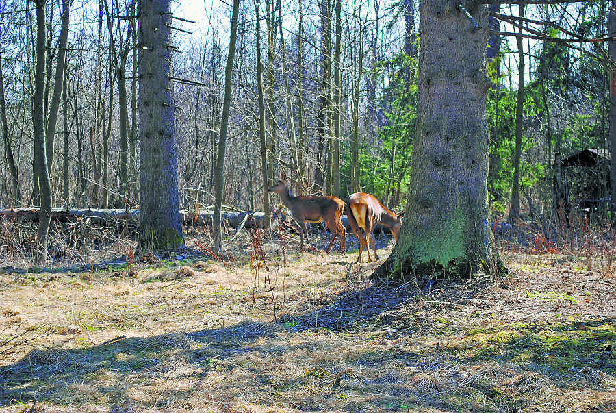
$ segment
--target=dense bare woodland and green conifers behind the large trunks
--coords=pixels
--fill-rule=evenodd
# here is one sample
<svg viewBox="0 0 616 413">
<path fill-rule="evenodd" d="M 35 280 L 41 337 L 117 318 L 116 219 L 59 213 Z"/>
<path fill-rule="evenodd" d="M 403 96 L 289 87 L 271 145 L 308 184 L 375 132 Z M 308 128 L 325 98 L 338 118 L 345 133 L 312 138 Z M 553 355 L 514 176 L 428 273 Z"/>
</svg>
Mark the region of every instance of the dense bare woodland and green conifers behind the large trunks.
<svg viewBox="0 0 616 413">
<path fill-rule="evenodd" d="M 47 126 L 46 133 L 53 206 L 136 208 L 138 164 L 143 162 L 137 150 L 137 28 L 131 18 L 136 4 L 73 1 L 66 82 L 56 89 L 62 90 L 62 99 L 54 100 L 57 68 L 62 67 L 58 58 L 63 58 L 61 16 L 67 5 L 60 1 L 47 4 L 46 125 L 54 105 L 58 118 L 55 131 Z M 341 83 L 337 88 L 331 4 L 267 1 L 261 5 L 265 9 L 266 157 L 271 183 L 283 168 L 298 194 L 322 192 L 344 199 L 361 190 L 376 195 L 391 209 L 401 208 L 414 136 L 416 6 L 412 1 L 342 5 Z M 190 6 L 185 10 L 191 10 Z M 593 1 L 544 2 L 523 8 L 521 20 L 511 17 L 519 14 L 517 5 L 493 5 L 491 10 L 491 210 L 495 217 L 502 216 L 512 199 L 521 197 L 526 212 L 554 217 L 559 209 L 554 201 L 556 154 L 567 158 L 587 148 L 608 150 L 608 66 L 600 44 L 589 41 L 608 32 L 607 8 Z M 229 13 L 229 7 L 220 4 L 207 8 L 205 20 L 183 21 L 181 11 L 174 20 L 179 29 L 173 45 L 173 79 L 183 209 L 213 203 Z M 194 18 L 190 11 L 186 15 Z M 506 19 L 505 15 L 514 25 L 522 21 L 527 34 L 519 41 L 507 40 L 505 33 L 513 34 L 515 26 L 500 28 L 498 19 Z M 3 3 L 0 16 L 7 127 L 3 131 L 0 205 L 34 207 L 38 205 L 31 125 L 35 19 L 25 1 Z M 200 36 L 187 33 L 194 31 Z M 240 7 L 237 45 L 223 202 L 240 210 L 263 210 L 255 16 L 248 3 Z M 524 84 L 522 99 L 519 84 Z M 333 116 L 334 90 L 341 94 L 339 125 Z M 516 120 L 516 113 L 522 115 L 521 120 Z M 516 142 L 516 125 L 520 124 Z M 606 162 L 599 168 L 603 169 L 591 175 L 604 175 Z M 584 192 L 589 189 L 582 182 L 574 188 L 576 195 L 608 198 L 608 180 L 600 182 L 602 193 Z"/>
</svg>

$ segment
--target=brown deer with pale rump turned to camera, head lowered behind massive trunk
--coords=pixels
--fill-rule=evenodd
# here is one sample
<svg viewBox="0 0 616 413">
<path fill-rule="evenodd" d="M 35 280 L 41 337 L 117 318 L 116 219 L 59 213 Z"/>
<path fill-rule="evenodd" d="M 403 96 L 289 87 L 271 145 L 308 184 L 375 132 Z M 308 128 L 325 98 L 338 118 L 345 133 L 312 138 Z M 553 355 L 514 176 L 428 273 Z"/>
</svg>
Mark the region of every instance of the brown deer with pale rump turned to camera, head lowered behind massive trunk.
<svg viewBox="0 0 616 413">
<path fill-rule="evenodd" d="M 374 235 L 372 234 L 376 223 L 381 223 L 389 227 L 392 230 L 394 239 L 398 241 L 400 226 L 402 225 L 402 216 L 404 214 L 404 212 L 396 214 L 388 210 L 373 195 L 365 194 L 364 192 L 356 192 L 355 194 L 349 195 L 346 199 L 346 216 L 353 232 L 355 232 L 355 236 L 357 236 L 359 240 L 359 256 L 357 257 L 357 262 L 361 262 L 363 245 L 365 245 L 365 250 L 368 251 L 368 262 L 371 262 L 368 239 L 372 242 L 374 258 L 378 261 L 376 247 L 374 246 Z M 363 229 L 364 236 L 361 236 L 361 231 L 359 231 L 360 228 Z"/>
</svg>

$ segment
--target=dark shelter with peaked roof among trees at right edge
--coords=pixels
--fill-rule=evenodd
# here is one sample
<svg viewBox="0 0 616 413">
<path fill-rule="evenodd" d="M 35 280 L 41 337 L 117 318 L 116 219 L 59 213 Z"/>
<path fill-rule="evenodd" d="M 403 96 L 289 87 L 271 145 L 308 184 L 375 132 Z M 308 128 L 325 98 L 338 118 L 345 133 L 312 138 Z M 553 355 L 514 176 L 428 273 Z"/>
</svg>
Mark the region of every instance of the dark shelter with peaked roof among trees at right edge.
<svg viewBox="0 0 616 413">
<path fill-rule="evenodd" d="M 554 160 L 554 210 L 569 220 L 573 211 L 592 221 L 608 217 L 611 200 L 610 153 L 584 149 L 569 158 Z"/>
</svg>

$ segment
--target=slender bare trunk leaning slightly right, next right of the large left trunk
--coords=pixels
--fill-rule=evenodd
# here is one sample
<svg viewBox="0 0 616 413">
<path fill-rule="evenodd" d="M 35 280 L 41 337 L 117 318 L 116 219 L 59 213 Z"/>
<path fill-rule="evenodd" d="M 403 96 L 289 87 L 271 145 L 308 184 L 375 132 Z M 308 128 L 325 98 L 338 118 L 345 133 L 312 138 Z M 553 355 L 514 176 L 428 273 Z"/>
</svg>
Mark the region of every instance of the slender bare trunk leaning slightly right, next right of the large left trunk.
<svg viewBox="0 0 616 413">
<path fill-rule="evenodd" d="M 214 166 L 214 252 L 222 252 L 222 190 L 224 184 L 224 154 L 227 148 L 227 127 L 229 111 L 231 110 L 231 93 L 233 92 L 233 58 L 235 58 L 235 40 L 238 35 L 238 14 L 240 0 L 233 0 L 231 15 L 231 36 L 229 38 L 229 55 L 224 69 L 224 101 L 222 101 L 222 116 L 220 118 L 220 135 L 218 136 L 218 155 Z"/>
</svg>

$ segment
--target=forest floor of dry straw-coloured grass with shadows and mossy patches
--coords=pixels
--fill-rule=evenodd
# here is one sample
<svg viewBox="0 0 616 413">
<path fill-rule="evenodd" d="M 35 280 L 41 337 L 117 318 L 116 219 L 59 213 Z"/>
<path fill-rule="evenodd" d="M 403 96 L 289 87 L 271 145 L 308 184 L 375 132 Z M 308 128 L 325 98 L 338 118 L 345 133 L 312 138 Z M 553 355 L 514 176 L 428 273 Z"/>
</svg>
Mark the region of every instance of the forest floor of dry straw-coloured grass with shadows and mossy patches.
<svg viewBox="0 0 616 413">
<path fill-rule="evenodd" d="M 138 263 L 129 239 L 50 268 L 12 260 L 5 242 L 0 412 L 616 411 L 601 234 L 576 247 L 501 238 L 503 288 L 376 286 L 391 247 L 357 264 L 351 235 L 355 251 L 326 254 L 244 232 L 222 261 L 195 229 L 186 249 Z"/>
</svg>

